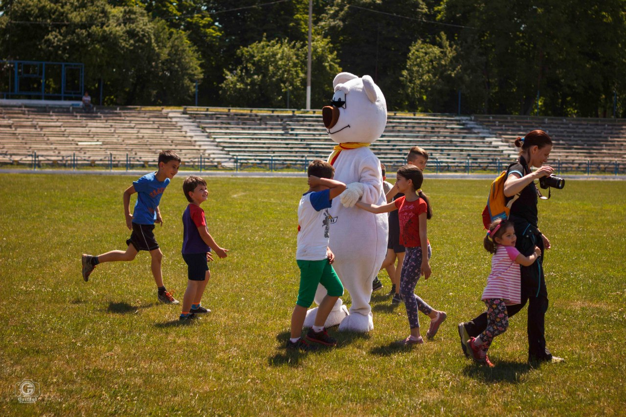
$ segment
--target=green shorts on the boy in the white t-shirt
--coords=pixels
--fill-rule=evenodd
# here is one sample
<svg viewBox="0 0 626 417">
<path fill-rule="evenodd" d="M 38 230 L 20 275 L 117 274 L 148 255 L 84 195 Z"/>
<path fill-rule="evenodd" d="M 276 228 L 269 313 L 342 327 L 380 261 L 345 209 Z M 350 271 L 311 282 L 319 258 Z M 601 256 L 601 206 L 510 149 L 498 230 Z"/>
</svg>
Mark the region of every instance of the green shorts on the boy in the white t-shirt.
<svg viewBox="0 0 626 417">
<path fill-rule="evenodd" d="M 313 304 L 317 284 L 322 284 L 328 295 L 341 297 L 344 295 L 344 286 L 328 259 L 322 260 L 295 260 L 300 268 L 300 290 L 298 291 L 298 306 L 309 308 Z"/>
</svg>

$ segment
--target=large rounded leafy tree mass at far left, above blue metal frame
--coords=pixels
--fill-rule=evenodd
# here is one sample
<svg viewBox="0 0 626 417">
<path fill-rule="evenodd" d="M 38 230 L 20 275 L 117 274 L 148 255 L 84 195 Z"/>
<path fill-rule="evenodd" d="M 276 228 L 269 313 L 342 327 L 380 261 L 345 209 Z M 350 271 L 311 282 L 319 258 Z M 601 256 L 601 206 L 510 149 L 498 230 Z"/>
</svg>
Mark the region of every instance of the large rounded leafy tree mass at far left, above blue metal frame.
<svg viewBox="0 0 626 417">
<path fill-rule="evenodd" d="M 16 0 L 0 17 L 0 38 L 11 59 L 84 63 L 87 88 L 104 80 L 110 104 L 184 103 L 202 78 L 182 31 L 104 0 Z"/>
</svg>

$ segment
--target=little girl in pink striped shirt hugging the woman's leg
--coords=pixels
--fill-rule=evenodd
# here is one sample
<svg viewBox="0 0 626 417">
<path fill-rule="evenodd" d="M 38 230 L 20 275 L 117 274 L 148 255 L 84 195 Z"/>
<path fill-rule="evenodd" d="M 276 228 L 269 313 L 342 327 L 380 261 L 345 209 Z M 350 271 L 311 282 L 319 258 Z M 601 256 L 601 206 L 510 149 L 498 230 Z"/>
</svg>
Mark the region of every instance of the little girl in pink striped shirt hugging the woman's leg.
<svg viewBox="0 0 626 417">
<path fill-rule="evenodd" d="M 493 338 L 508 327 L 506 306 L 520 304 L 520 265 L 532 265 L 541 255 L 541 249 L 535 247 L 535 253 L 524 256 L 515 249 L 515 242 L 513 222 L 506 219 L 495 220 L 483 239 L 485 249 L 494 254 L 481 297 L 487 306 L 487 328 L 478 337 L 470 337 L 468 345 L 475 361 L 487 366 L 493 366 L 487 356 Z"/>
</svg>

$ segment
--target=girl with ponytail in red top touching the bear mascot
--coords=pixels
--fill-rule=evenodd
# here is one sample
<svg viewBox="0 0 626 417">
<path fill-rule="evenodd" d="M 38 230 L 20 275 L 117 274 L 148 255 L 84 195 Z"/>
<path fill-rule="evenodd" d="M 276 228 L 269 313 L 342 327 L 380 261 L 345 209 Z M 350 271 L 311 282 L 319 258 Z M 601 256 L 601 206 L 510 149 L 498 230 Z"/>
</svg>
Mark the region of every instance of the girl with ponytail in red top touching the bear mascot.
<svg viewBox="0 0 626 417">
<path fill-rule="evenodd" d="M 361 209 L 371 213 L 387 213 L 398 210 L 400 220 L 400 243 L 406 247 L 404 263 L 400 275 L 400 295 L 403 297 L 406 314 L 409 317 L 411 335 L 402 341 L 403 344 L 422 344 L 424 339 L 419 335 L 418 311 L 431 318 L 426 337 L 434 337 L 446 313 L 434 310 L 421 298 L 414 294 L 415 286 L 421 275 L 428 279 L 431 274 L 428 263 L 428 238 L 426 237 L 426 220 L 433 215 L 428 197 L 421 190 L 424 177 L 421 170 L 414 165 L 404 165 L 396 175 L 396 186 L 404 193 L 394 202 L 385 205 L 374 205 L 357 202 Z"/>
</svg>

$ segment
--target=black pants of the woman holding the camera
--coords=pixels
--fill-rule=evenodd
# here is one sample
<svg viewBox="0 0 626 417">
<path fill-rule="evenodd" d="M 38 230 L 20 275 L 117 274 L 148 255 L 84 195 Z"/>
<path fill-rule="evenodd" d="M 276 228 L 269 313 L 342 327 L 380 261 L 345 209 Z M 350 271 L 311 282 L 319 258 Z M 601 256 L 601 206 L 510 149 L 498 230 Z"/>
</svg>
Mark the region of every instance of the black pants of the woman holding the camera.
<svg viewBox="0 0 626 417">
<path fill-rule="evenodd" d="M 520 304 L 506 306 L 508 316 L 513 317 L 528 301 L 528 360 L 549 361 L 552 354 L 546 348 L 545 314 L 548 311 L 548 297 L 523 297 Z M 469 336 L 476 337 L 487 328 L 487 312 L 465 323 Z"/>
</svg>

